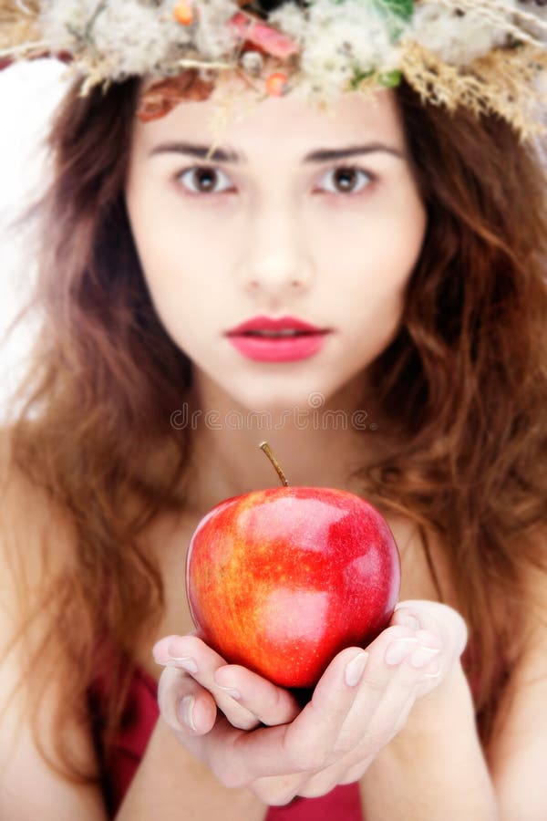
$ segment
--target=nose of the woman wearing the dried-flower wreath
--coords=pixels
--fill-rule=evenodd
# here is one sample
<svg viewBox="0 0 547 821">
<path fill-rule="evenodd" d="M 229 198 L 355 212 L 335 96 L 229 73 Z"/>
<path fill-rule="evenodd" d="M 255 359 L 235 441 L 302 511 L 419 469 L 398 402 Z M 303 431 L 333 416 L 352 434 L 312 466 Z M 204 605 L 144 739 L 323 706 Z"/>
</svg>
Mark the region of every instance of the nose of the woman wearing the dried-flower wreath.
<svg viewBox="0 0 547 821">
<path fill-rule="evenodd" d="M 240 265 L 245 290 L 273 297 L 306 290 L 314 279 L 310 250 L 286 211 L 255 216 Z"/>
</svg>

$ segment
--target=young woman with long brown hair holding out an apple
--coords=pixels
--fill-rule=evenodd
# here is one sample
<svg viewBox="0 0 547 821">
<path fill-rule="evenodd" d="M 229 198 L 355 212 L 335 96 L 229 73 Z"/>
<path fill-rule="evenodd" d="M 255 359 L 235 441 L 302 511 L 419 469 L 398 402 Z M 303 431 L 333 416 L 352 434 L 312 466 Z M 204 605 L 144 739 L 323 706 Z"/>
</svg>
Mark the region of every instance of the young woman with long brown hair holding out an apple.
<svg viewBox="0 0 547 821">
<path fill-rule="evenodd" d="M 150 122 L 147 78 L 80 88 L 2 436 L 0 815 L 544 818 L 533 145 L 403 81 L 335 117 L 266 99 L 211 155 L 190 87 Z M 244 341 L 255 318 L 315 345 Z M 274 484 L 263 438 L 292 484 L 376 504 L 401 554 L 389 626 L 304 708 L 210 649 L 184 593 L 201 517 Z"/>
</svg>

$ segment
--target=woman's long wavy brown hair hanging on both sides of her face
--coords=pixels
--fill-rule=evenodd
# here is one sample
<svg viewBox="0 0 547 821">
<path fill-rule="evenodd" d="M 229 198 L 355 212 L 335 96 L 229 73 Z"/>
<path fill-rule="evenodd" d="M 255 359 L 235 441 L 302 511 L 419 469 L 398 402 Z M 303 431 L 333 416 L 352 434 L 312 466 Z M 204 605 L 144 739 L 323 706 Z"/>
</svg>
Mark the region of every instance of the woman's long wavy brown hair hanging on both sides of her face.
<svg viewBox="0 0 547 821">
<path fill-rule="evenodd" d="M 160 570 L 138 535 L 184 505 L 191 442 L 170 413 L 191 385 L 191 363 L 151 305 L 123 197 L 139 78 L 85 98 L 79 82 L 51 124 L 51 184 L 25 215 L 41 225 L 27 309 L 39 306 L 43 325 L 10 440 L 17 469 L 75 534 L 32 611 L 20 579 L 28 612 L 18 638 L 36 616 L 47 625 L 26 676 L 35 710 L 48 670 L 61 655 L 76 662 L 58 705 L 55 755 L 43 752 L 85 781 L 93 775 L 62 728 L 101 663 L 112 664 L 108 756 L 135 649 L 159 624 Z M 423 104 L 404 82 L 395 93 L 428 228 L 400 332 L 371 367 L 397 448 L 361 475 L 373 504 L 439 536 L 477 648 L 470 674 L 487 743 L 499 654 L 511 667 L 524 639 L 525 573 L 547 572 L 538 540 L 547 501 L 547 187 L 537 147 L 502 120 Z M 115 649 L 102 662 L 101 637 Z"/>
</svg>

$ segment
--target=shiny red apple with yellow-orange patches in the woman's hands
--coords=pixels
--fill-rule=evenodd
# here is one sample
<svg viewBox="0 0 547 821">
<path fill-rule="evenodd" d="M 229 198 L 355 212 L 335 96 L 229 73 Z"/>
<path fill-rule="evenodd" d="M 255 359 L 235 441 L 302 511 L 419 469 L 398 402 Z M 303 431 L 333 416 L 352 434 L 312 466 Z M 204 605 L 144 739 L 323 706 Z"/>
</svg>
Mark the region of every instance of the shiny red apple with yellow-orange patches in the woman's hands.
<svg viewBox="0 0 547 821">
<path fill-rule="evenodd" d="M 191 537 L 186 591 L 204 639 L 230 663 L 312 687 L 337 652 L 387 627 L 400 558 L 384 517 L 326 487 L 284 486 L 215 505 Z"/>
</svg>

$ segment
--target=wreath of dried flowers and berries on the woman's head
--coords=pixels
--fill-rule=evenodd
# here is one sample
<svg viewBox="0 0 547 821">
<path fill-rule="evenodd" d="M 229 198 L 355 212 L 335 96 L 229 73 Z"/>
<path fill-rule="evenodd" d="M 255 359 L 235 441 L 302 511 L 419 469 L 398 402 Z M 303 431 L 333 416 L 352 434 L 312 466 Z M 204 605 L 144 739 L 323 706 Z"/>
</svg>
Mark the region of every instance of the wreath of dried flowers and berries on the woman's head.
<svg viewBox="0 0 547 821">
<path fill-rule="evenodd" d="M 423 101 L 545 129 L 547 0 L 0 0 L 0 68 L 53 56 L 90 88 L 156 81 L 145 122 L 207 99 L 220 72 L 260 99 L 328 105 L 402 78 Z"/>
</svg>

